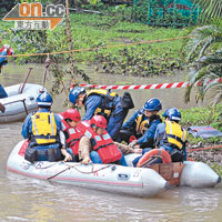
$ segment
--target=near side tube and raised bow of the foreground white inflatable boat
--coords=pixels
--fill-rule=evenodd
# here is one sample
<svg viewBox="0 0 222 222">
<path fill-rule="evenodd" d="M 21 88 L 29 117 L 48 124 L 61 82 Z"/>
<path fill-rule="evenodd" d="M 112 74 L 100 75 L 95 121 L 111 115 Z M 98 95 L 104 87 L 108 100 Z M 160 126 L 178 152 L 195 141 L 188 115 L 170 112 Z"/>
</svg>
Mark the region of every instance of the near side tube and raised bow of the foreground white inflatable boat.
<svg viewBox="0 0 222 222">
<path fill-rule="evenodd" d="M 81 164 L 79 162 L 24 160 L 27 141 L 20 141 L 9 155 L 7 169 L 22 175 L 69 183 L 137 196 L 157 195 L 168 182 L 154 170 L 115 164 Z"/>
</svg>

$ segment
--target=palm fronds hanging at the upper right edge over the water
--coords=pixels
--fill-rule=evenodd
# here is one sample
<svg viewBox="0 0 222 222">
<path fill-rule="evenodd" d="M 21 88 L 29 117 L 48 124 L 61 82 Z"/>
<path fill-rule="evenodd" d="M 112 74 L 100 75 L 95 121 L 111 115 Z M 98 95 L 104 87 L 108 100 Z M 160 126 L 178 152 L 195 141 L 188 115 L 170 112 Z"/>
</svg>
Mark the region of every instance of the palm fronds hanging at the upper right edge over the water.
<svg viewBox="0 0 222 222">
<path fill-rule="evenodd" d="M 195 3 L 202 8 L 200 21 L 208 26 L 194 29 L 191 32 L 194 38 L 184 47 L 192 63 L 185 100 L 190 100 L 193 85 L 201 82 L 196 91 L 196 101 L 203 100 L 206 92 L 211 91 L 212 100 L 216 104 L 222 101 L 222 82 L 209 84 L 209 81 L 222 78 L 222 1 L 198 0 Z"/>
</svg>

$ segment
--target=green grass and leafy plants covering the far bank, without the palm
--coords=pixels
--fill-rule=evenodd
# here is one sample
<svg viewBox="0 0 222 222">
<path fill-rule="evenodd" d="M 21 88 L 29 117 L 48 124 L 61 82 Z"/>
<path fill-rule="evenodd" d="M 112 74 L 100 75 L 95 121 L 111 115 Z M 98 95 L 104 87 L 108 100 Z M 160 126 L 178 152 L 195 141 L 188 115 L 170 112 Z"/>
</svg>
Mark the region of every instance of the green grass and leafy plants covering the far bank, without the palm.
<svg viewBox="0 0 222 222">
<path fill-rule="evenodd" d="M 69 50 L 65 22 L 54 31 L 14 31 L 12 26 L 13 22 L 0 22 L 3 43 L 12 44 L 17 54 Z M 183 37 L 188 34 L 186 29 L 151 28 L 100 14 L 90 14 L 89 19 L 89 14 L 85 13 L 71 13 L 71 26 L 74 49 L 107 48 L 74 52 L 77 65 L 79 63 L 100 63 L 98 69 L 107 73 L 143 77 L 171 73 L 173 69 L 184 67 L 183 57 L 180 53 L 183 40 L 112 48 L 109 46 Z M 68 62 L 68 54 L 57 57 L 60 61 Z M 42 62 L 40 57 L 17 60 L 19 62 Z"/>
</svg>

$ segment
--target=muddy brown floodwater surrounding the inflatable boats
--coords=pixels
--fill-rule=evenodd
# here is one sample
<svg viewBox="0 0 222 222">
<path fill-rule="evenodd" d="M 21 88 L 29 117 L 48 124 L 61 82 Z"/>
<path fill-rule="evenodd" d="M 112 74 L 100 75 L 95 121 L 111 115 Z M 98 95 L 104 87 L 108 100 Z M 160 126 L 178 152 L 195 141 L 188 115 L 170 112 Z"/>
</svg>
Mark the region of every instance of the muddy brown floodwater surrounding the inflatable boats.
<svg viewBox="0 0 222 222">
<path fill-rule="evenodd" d="M 0 82 L 11 85 L 22 82 L 29 65 L 8 64 L 0 77 Z M 42 83 L 43 68 L 37 68 L 28 82 Z M 92 73 L 94 74 L 94 73 Z M 122 84 L 125 77 L 93 78 L 99 84 Z M 101 80 L 101 81 L 99 81 Z M 183 75 L 165 79 L 130 79 L 128 83 L 159 83 L 184 81 Z M 119 82 L 119 83 L 118 83 Z M 47 82 L 46 87 L 50 87 Z M 183 91 L 148 90 L 132 92 L 135 107 L 141 107 L 148 98 L 157 97 L 169 107 L 194 107 L 184 104 Z M 121 94 L 122 92 L 120 92 Z M 56 99 L 54 111 L 63 111 L 61 100 Z M 128 115 L 129 117 L 129 115 Z M 214 189 L 173 188 L 155 198 L 140 199 L 94 190 L 74 188 L 67 184 L 51 183 L 18 175 L 7 171 L 10 151 L 22 138 L 22 122 L 0 124 L 0 222 L 59 222 L 59 221 L 145 221 L 145 222 L 220 222 L 222 218 L 222 185 Z"/>
</svg>

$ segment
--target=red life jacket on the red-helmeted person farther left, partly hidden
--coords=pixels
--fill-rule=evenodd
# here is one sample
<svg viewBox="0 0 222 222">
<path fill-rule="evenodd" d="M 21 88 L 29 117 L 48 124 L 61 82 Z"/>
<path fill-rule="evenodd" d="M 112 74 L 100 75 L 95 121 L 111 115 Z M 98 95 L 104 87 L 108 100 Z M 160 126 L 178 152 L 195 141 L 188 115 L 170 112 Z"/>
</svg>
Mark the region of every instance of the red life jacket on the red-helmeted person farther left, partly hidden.
<svg viewBox="0 0 222 222">
<path fill-rule="evenodd" d="M 69 145 L 69 148 L 72 149 L 74 155 L 79 154 L 79 143 L 80 138 L 82 137 L 82 133 L 77 128 L 70 127 L 65 120 L 61 120 L 62 122 L 62 132 L 65 137 L 65 142 Z"/>
</svg>

